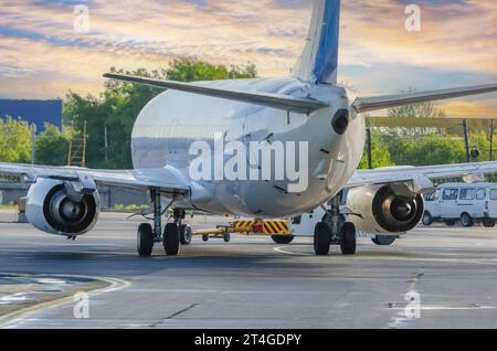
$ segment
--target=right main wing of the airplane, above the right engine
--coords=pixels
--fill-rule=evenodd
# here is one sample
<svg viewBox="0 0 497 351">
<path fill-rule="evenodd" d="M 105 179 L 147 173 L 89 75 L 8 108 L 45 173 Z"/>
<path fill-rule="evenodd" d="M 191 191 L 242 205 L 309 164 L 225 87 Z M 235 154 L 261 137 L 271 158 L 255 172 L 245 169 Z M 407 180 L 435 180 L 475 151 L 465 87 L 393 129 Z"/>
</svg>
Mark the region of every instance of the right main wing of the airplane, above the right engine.
<svg viewBox="0 0 497 351">
<path fill-rule="evenodd" d="M 408 183 L 416 193 L 431 192 L 432 180 L 464 178 L 468 182 L 484 181 L 485 174 L 497 173 L 497 162 L 443 164 L 426 167 L 391 167 L 373 170 L 358 170 L 347 188 L 363 185 Z"/>
</svg>

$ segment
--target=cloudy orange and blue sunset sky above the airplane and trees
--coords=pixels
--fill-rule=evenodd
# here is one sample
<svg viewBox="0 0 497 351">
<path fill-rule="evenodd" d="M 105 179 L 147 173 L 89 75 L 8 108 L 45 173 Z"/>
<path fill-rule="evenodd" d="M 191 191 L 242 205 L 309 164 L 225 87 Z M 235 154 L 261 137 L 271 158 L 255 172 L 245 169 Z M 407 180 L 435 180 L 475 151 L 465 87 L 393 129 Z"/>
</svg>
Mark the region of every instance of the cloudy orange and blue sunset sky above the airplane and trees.
<svg viewBox="0 0 497 351">
<path fill-rule="evenodd" d="M 186 55 L 286 76 L 305 44 L 311 4 L 0 0 L 0 98 L 98 95 L 112 66 L 161 68 Z M 405 29 L 410 4 L 421 10 L 421 31 Z M 361 96 L 497 83 L 496 23 L 495 0 L 342 1 L 339 81 Z M 497 118 L 496 94 L 440 106 L 454 117 Z"/>
</svg>

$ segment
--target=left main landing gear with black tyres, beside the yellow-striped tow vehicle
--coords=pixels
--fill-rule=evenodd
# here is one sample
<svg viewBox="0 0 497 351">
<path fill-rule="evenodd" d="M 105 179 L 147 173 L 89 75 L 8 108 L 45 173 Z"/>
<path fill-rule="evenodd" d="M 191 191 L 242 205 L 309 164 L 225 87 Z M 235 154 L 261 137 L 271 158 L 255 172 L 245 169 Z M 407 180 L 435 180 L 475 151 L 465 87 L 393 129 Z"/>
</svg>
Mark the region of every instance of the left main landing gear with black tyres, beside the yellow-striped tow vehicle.
<svg viewBox="0 0 497 351">
<path fill-rule="evenodd" d="M 191 242 L 191 227 L 181 223 L 186 217 L 186 212 L 181 209 L 175 209 L 175 222 L 167 223 L 162 232 L 162 215 L 171 208 L 175 200 L 162 210 L 159 190 L 151 189 L 150 194 L 154 204 L 154 227 L 148 223 L 144 223 L 138 227 L 138 254 L 141 257 L 148 257 L 152 253 L 154 245 L 162 243 L 166 255 L 177 256 L 180 252 L 180 243 L 189 245 Z"/>
</svg>

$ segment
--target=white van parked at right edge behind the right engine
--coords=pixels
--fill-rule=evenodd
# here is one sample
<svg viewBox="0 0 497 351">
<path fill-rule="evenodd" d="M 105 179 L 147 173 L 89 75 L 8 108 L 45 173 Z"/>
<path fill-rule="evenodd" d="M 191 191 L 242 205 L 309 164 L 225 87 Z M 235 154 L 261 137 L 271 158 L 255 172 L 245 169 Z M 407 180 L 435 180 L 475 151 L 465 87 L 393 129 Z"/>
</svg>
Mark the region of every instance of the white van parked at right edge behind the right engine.
<svg viewBox="0 0 497 351">
<path fill-rule="evenodd" d="M 494 227 L 497 219 L 497 184 L 495 183 L 446 183 L 426 196 L 423 224 L 445 222 L 453 226 L 461 221 L 463 226 L 482 222 Z"/>
</svg>

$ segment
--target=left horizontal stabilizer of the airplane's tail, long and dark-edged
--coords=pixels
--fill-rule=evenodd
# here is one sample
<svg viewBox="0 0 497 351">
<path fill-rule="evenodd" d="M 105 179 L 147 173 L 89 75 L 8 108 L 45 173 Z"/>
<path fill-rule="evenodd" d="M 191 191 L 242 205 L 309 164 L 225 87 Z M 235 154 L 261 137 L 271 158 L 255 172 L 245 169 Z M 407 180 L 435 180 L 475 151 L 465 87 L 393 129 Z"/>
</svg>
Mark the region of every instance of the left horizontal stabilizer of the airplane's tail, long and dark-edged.
<svg viewBox="0 0 497 351">
<path fill-rule="evenodd" d="M 130 75 L 107 73 L 106 78 L 117 79 L 128 83 L 149 85 L 159 88 L 175 89 L 191 94 L 199 94 L 235 102 L 250 103 L 283 110 L 292 110 L 298 114 L 310 114 L 314 110 L 329 107 L 328 104 L 311 98 L 302 98 L 289 95 L 269 94 L 260 92 L 240 92 L 213 88 L 193 83 L 181 83 L 172 81 L 142 78 Z"/>
</svg>

